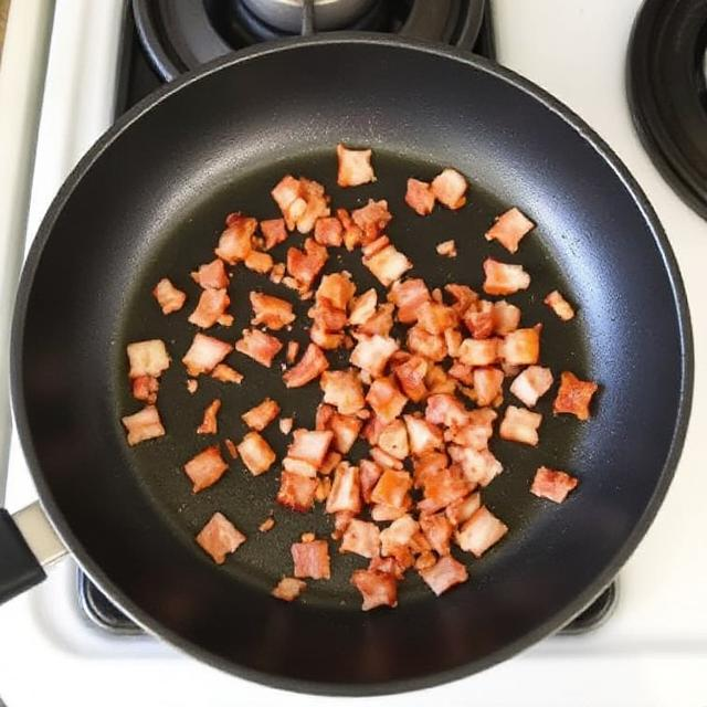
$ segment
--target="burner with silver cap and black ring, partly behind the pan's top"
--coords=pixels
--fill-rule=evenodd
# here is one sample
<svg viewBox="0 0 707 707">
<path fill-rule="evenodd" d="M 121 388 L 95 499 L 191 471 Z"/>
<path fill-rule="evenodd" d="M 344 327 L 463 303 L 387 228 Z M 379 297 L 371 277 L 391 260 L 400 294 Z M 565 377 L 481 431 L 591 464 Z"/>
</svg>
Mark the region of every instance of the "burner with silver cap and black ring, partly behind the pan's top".
<svg viewBox="0 0 707 707">
<path fill-rule="evenodd" d="M 302 0 L 133 0 L 133 14 L 150 63 L 171 81 L 232 51 L 293 36 L 302 6 Z M 486 0 L 315 0 L 314 24 L 315 30 L 390 32 L 471 50 L 486 6 Z"/>
</svg>

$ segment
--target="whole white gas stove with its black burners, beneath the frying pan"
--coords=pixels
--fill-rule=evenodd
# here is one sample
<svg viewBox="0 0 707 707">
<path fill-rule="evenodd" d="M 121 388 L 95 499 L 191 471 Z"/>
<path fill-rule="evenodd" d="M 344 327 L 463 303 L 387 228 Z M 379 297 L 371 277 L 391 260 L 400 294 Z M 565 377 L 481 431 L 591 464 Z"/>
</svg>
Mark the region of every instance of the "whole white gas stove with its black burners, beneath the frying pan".
<svg viewBox="0 0 707 707">
<path fill-rule="evenodd" d="M 57 3 L 53 12 L 41 0 L 15 0 L 14 6 L 0 71 L 0 97 L 7 96 L 2 88 L 8 89 L 3 78 L 7 84 L 10 50 L 19 57 L 24 52 L 27 60 L 32 35 L 38 46 L 49 49 L 49 57 L 44 81 L 41 68 L 27 76 L 40 86 L 41 105 L 28 101 L 23 106 L 30 123 L 39 120 L 39 134 L 27 194 L 29 209 L 24 204 L 22 217 L 21 199 L 15 199 L 20 214 L 15 238 L 8 230 L 4 239 L 0 231 L 0 253 L 9 263 L 0 270 L 6 288 L 17 279 L 17 267 L 8 272 L 10 265 L 20 262 L 61 181 L 117 116 L 161 82 L 203 62 L 303 29 L 386 31 L 474 51 L 553 93 L 609 141 L 656 208 L 692 305 L 697 350 L 695 403 L 673 488 L 618 584 L 560 634 L 481 675 L 422 693 L 377 698 L 377 704 L 402 704 L 403 699 L 407 705 L 422 704 L 436 697 L 453 704 L 477 699 L 509 705 L 517 704 L 523 689 L 523 699 L 530 705 L 657 705 L 669 700 L 704 706 L 707 611 L 701 597 L 707 590 L 707 557 L 700 547 L 697 499 L 700 492 L 707 492 L 707 479 L 699 474 L 695 430 L 707 414 L 707 382 L 699 358 L 707 298 L 698 286 L 700 255 L 707 256 L 707 223 L 672 190 L 668 183 L 674 180 L 665 168 L 661 166 L 659 173 L 653 167 L 651 159 L 658 163 L 659 158 L 654 141 L 646 138 L 650 128 L 641 125 L 643 98 L 636 98 L 635 89 L 631 106 L 646 147 L 632 125 L 623 66 L 640 0 L 319 0 L 304 18 L 304 27 L 297 0 L 103 0 L 99 9 L 93 0 L 74 0 Z M 634 35 L 632 55 L 639 53 L 641 43 L 641 35 Z M 640 59 L 634 64 L 643 65 Z M 635 78 L 636 85 L 640 81 Z M 704 77 L 701 86 L 704 89 Z M 18 229 L 23 219 L 27 228 Z M 17 238 L 20 230 L 22 236 L 27 233 L 22 243 Z M 7 326 L 9 310 L 0 314 Z M 35 492 L 17 436 L 7 446 L 6 505 L 17 509 L 31 502 Z M 3 635 L 12 636 L 12 641 L 0 642 L 0 698 L 12 705 L 49 699 L 63 704 L 70 695 L 73 703 L 88 704 L 97 689 L 102 703 L 108 705 L 126 699 L 172 705 L 204 697 L 214 705 L 235 700 L 265 705 L 282 698 L 272 689 L 182 657 L 145 635 L 72 561 L 56 567 L 43 585 L 0 608 L 0 627 Z M 36 667 L 52 678 L 34 679 Z M 124 674 L 126 679 L 116 679 Z M 109 694 L 106 684 L 112 686 Z M 76 685 L 81 685 L 78 690 Z M 344 701 L 294 695 L 287 699 L 295 705 Z"/>
</svg>

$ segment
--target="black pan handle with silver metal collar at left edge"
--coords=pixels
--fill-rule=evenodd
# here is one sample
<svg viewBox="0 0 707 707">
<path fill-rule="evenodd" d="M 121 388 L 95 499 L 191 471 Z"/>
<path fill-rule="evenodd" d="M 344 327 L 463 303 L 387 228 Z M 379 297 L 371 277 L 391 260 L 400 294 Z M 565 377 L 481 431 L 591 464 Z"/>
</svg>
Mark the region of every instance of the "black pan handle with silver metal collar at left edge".
<svg viewBox="0 0 707 707">
<path fill-rule="evenodd" d="M 39 502 L 14 515 L 0 508 L 0 604 L 39 584 L 66 552 Z"/>
</svg>

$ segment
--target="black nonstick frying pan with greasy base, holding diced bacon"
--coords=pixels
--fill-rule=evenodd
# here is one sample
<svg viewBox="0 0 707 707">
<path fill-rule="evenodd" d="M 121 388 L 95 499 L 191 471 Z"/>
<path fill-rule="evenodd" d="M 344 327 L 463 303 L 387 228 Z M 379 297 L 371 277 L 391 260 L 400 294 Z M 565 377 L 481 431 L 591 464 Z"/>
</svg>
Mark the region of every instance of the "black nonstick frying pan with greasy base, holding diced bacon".
<svg viewBox="0 0 707 707">
<path fill-rule="evenodd" d="M 378 181 L 341 190 L 335 145 L 370 146 Z M 454 166 L 469 203 L 416 217 L 405 179 Z M 434 598 L 419 578 L 395 610 L 360 611 L 348 578 L 365 566 L 331 546 L 333 579 L 302 601 L 268 592 L 292 573 L 303 531 L 328 537 L 316 510 L 273 508 L 278 469 L 252 477 L 240 462 L 192 495 L 181 466 L 211 441 L 196 426 L 223 400 L 219 439 L 239 440 L 243 411 L 266 395 L 312 428 L 320 390 L 286 390 L 279 367 L 233 354 L 245 376 L 226 388 L 202 379 L 192 398 L 180 358 L 193 336 L 189 272 L 213 257 L 224 215 L 276 217 L 270 189 L 287 173 L 321 181 L 333 204 L 387 198 L 391 240 L 431 286 L 479 287 L 488 254 L 521 262 L 530 291 L 514 296 L 529 325 L 542 323 L 542 360 L 595 380 L 593 418 L 551 414 L 537 449 L 493 442 L 505 472 L 485 503 L 510 527 L 481 560 L 460 555 L 469 581 Z M 518 205 L 537 223 L 517 256 L 482 236 Z M 458 256 L 434 246 L 454 238 Z M 291 235 L 276 251 L 298 244 Z M 333 254 L 359 291 L 374 284 L 358 255 Z M 163 317 L 149 294 L 162 276 L 187 291 L 184 312 Z M 231 284 L 235 339 L 253 288 L 292 297 L 239 268 Z M 558 288 L 579 305 L 562 324 L 541 304 Z M 306 304 L 297 304 L 300 319 Z M 302 325 L 299 325 L 302 327 Z M 305 340 L 296 328 L 292 336 Z M 172 365 L 158 405 L 168 434 L 129 449 L 119 418 L 139 408 L 127 386 L 125 347 L 162 338 Z M 341 366 L 333 357 L 333 366 Z M 481 671 L 552 633 L 614 577 L 648 527 L 682 447 L 692 391 L 685 294 L 669 245 L 618 158 L 577 116 L 515 74 L 437 45 L 366 34 L 266 44 L 220 60 L 157 92 L 88 152 L 51 207 L 29 255 L 12 333 L 17 424 L 52 525 L 89 577 L 148 631 L 214 666 L 268 685 L 329 694 L 420 688 Z M 508 402 L 508 400 L 506 401 Z M 282 455 L 286 440 L 266 439 Z M 365 450 L 355 449 L 354 457 Z M 357 456 L 358 455 L 358 456 Z M 580 486 L 562 505 L 528 493 L 540 464 Z M 217 567 L 193 537 L 220 509 L 249 541 Z M 41 578 L 4 516 L 6 595 Z M 23 563 L 24 562 L 24 563 Z M 24 570 L 18 578 L 12 570 Z M 414 574 L 414 572 L 413 572 Z"/>
</svg>

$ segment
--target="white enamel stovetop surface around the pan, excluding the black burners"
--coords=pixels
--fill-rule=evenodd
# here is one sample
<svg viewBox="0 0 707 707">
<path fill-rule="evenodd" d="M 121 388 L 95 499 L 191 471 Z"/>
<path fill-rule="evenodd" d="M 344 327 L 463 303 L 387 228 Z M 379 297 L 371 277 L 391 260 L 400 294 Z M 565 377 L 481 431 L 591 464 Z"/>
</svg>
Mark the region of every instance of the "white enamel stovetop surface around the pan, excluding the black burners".
<svg viewBox="0 0 707 707">
<path fill-rule="evenodd" d="M 500 63 L 553 93 L 602 135 L 647 192 L 677 255 L 692 307 L 697 363 L 690 429 L 675 482 L 653 527 L 622 570 L 616 609 L 602 627 L 584 636 L 548 639 L 471 678 L 412 694 L 359 699 L 358 705 L 412 707 L 429 705 L 430 699 L 454 706 L 520 700 L 544 707 L 707 705 L 703 539 L 707 475 L 698 436 L 707 429 L 707 370 L 701 356 L 707 337 L 703 275 L 707 223 L 664 182 L 631 123 L 624 55 L 640 4 L 640 0 L 493 0 L 493 10 Z M 30 238 L 65 175 L 110 123 L 114 85 L 105 77 L 115 75 L 123 11 L 122 0 L 57 3 L 27 229 Z M 13 28 L 11 19 L 9 33 L 19 32 L 20 24 Z M 3 67 L 11 65 L 3 62 Z M 2 241 L 4 235 L 0 232 L 0 257 L 17 260 L 11 244 Z M 7 271 L 0 268 L 0 276 L 17 277 Z M 9 320 L 0 326 L 7 333 Z M 0 414 L 7 415 L 7 410 Z M 8 481 L 6 505 L 11 510 L 35 498 L 15 435 Z M 78 611 L 74 583 L 75 566 L 68 560 L 51 570 L 42 585 L 0 608 L 0 698 L 8 705 L 71 700 L 78 706 L 96 701 L 103 707 L 126 701 L 172 706 L 199 700 L 264 706 L 286 698 L 296 707 L 350 701 L 285 695 L 221 674 L 150 637 L 106 636 Z"/>
</svg>

